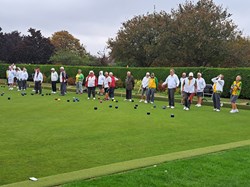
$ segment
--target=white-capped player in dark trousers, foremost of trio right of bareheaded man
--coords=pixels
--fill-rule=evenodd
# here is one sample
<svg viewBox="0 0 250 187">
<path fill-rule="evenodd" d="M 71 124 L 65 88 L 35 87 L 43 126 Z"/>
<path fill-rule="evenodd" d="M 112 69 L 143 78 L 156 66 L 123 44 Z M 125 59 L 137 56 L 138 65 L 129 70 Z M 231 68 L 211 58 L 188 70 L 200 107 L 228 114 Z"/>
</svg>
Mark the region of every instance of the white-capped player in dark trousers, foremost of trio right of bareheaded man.
<svg viewBox="0 0 250 187">
<path fill-rule="evenodd" d="M 197 83 L 194 78 L 193 72 L 190 72 L 188 74 L 188 77 L 186 77 L 183 81 L 182 85 L 183 93 L 184 93 L 184 108 L 183 110 L 189 110 L 191 103 L 192 103 L 192 98 L 195 94 L 196 88 L 197 88 Z"/>
</svg>

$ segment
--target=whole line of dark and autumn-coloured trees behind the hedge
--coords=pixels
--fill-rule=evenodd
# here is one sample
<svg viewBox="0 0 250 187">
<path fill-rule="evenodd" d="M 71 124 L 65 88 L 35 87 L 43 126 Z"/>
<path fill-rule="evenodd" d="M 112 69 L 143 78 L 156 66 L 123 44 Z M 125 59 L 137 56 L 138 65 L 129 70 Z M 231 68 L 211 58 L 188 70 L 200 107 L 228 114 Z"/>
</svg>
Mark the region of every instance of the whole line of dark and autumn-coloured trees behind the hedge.
<svg viewBox="0 0 250 187">
<path fill-rule="evenodd" d="M 138 15 L 122 23 L 99 56 L 67 31 L 50 38 L 30 28 L 3 33 L 0 62 L 133 67 L 249 67 L 250 40 L 213 0 L 186 1 L 170 13 Z"/>
</svg>

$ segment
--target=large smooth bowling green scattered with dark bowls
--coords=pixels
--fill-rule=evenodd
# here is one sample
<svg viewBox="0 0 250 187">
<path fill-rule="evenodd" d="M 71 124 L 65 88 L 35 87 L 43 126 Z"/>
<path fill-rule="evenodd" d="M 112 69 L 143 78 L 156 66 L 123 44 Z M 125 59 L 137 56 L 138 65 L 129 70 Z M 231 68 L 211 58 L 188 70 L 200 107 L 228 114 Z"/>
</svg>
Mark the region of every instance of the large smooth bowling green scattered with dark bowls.
<svg viewBox="0 0 250 187">
<path fill-rule="evenodd" d="M 76 95 L 31 95 L 0 88 L 0 185 L 159 154 L 249 139 L 250 111 L 211 107 L 163 110 L 99 103 Z M 46 91 L 44 91 L 46 93 Z M 47 91 L 48 92 L 48 91 Z M 8 100 L 7 98 L 11 99 Z M 55 98 L 60 98 L 56 101 Z M 70 102 L 67 100 L 70 99 Z M 109 108 L 109 105 L 112 108 Z M 134 109 L 134 105 L 138 108 Z M 118 106 L 118 109 L 115 109 Z M 98 110 L 94 110 L 98 107 Z M 146 113 L 150 112 L 151 115 Z M 174 114 L 174 118 L 170 115 Z"/>
</svg>

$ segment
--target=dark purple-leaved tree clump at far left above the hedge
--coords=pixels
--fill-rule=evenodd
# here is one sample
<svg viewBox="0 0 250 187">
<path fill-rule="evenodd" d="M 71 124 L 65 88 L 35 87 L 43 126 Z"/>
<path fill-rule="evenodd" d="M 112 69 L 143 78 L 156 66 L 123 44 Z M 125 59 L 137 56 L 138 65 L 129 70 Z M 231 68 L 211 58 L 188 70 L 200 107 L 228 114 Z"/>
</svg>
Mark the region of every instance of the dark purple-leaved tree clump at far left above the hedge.
<svg viewBox="0 0 250 187">
<path fill-rule="evenodd" d="M 30 28 L 30 35 L 20 32 L 0 33 L 0 60 L 9 63 L 48 63 L 54 47 L 40 31 Z"/>
</svg>

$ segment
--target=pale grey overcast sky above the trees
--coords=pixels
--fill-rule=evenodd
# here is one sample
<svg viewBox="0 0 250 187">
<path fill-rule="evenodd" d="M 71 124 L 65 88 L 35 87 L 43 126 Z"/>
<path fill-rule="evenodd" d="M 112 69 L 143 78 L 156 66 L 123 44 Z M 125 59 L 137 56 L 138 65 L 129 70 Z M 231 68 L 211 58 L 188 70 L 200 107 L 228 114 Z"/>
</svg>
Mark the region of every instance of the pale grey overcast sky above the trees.
<svg viewBox="0 0 250 187">
<path fill-rule="evenodd" d="M 18 30 L 27 35 L 32 27 L 50 37 L 66 30 L 92 55 L 103 51 L 108 38 L 116 36 L 121 23 L 135 15 L 170 12 L 185 0 L 0 0 L 0 27 L 3 32 Z M 197 2 L 195 0 L 194 2 Z M 250 36 L 250 0 L 214 0 L 233 14 L 232 19 Z"/>
</svg>

